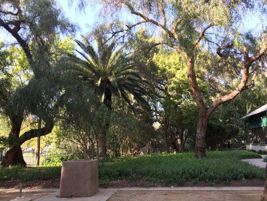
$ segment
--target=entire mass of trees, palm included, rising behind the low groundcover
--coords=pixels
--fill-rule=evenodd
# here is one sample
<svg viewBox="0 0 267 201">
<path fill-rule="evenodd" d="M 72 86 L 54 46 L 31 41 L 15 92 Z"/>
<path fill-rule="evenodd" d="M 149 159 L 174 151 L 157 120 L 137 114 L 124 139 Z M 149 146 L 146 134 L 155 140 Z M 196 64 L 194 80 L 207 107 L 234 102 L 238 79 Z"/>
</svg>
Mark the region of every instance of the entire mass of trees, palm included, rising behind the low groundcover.
<svg viewBox="0 0 267 201">
<path fill-rule="evenodd" d="M 70 158 L 145 149 L 202 158 L 245 143 L 240 118 L 267 94 L 262 1 L 75 3 L 100 8 L 81 36 L 56 1 L 0 3 L 12 38 L 0 43 L 2 165 L 26 165 L 22 152 L 48 134 L 44 146 Z M 246 30 L 254 13 L 263 20 Z"/>
</svg>

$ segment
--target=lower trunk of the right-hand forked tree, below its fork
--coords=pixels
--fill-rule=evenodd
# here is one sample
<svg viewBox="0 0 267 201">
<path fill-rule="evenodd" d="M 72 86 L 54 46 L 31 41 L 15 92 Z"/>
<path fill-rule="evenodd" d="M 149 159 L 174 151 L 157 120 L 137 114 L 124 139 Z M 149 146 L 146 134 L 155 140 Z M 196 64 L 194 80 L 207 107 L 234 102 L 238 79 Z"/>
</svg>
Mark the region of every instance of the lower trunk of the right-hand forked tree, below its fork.
<svg viewBox="0 0 267 201">
<path fill-rule="evenodd" d="M 195 157 L 206 158 L 206 143 L 205 135 L 207 130 L 208 118 L 205 114 L 199 115 L 199 120 L 196 127 L 196 142 L 195 142 Z"/>
</svg>

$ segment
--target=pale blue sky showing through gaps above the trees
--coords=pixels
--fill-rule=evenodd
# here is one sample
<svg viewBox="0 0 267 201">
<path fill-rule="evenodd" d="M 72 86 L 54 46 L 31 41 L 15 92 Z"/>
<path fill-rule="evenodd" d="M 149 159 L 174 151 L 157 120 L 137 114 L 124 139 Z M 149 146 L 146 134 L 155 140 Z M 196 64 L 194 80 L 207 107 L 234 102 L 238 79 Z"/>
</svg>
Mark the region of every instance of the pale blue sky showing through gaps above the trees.
<svg viewBox="0 0 267 201">
<path fill-rule="evenodd" d="M 73 5 L 69 5 L 68 0 L 56 0 L 59 8 L 62 10 L 64 15 L 75 25 L 79 27 L 78 31 L 75 34 L 75 38 L 80 38 L 81 35 L 86 35 L 92 29 L 94 28 L 94 25 L 101 21 L 99 18 L 99 9 L 96 6 L 90 6 L 84 8 L 84 10 L 79 10 L 77 8 L 77 5 L 73 3 Z M 76 1 L 74 1 L 76 2 Z M 243 20 L 242 25 L 239 27 L 240 30 L 245 31 L 252 31 L 255 35 L 258 34 L 259 30 L 262 30 L 262 27 L 260 26 L 260 23 L 262 24 L 262 21 L 260 21 L 260 18 L 262 16 L 255 14 L 255 13 L 249 13 L 244 14 L 246 18 Z M 122 13 L 123 20 L 133 20 L 131 18 L 131 15 L 128 13 Z M 265 24 L 264 26 L 267 26 L 267 21 L 263 22 Z M 5 30 L 0 29 L 0 41 L 7 41 L 7 42 L 13 42 L 13 37 L 8 34 Z"/>
</svg>

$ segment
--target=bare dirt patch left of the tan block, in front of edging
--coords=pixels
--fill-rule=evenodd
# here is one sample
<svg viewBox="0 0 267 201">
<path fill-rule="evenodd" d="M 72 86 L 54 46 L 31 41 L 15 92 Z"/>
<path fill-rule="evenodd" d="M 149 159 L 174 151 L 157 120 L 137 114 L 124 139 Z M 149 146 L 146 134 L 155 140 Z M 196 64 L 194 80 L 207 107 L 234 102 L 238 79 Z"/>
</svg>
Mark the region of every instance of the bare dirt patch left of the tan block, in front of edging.
<svg viewBox="0 0 267 201">
<path fill-rule="evenodd" d="M 24 192 L 22 196 L 31 199 L 37 199 L 48 194 L 48 192 Z M 18 196 L 18 192 L 0 192 L 0 201 L 10 201 L 11 199 L 15 199 Z"/>
</svg>

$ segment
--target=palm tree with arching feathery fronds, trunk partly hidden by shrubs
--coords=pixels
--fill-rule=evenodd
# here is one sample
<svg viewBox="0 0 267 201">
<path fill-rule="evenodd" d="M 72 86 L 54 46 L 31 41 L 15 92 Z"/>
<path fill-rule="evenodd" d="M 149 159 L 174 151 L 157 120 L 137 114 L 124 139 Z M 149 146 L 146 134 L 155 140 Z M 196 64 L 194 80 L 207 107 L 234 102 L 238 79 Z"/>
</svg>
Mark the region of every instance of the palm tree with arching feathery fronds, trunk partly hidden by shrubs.
<svg viewBox="0 0 267 201">
<path fill-rule="evenodd" d="M 96 48 L 87 38 L 84 38 L 83 42 L 75 40 L 81 49 L 76 50 L 79 57 L 71 55 L 79 64 L 75 70 L 76 75 L 93 87 L 100 102 L 110 111 L 112 97 L 125 100 L 131 107 L 134 100 L 148 107 L 143 98 L 143 95 L 147 94 L 147 83 L 138 72 L 134 60 L 116 45 L 115 40 L 109 42 L 99 32 L 94 36 Z M 106 131 L 109 128 L 109 120 L 104 127 L 98 135 L 100 157 L 106 156 Z"/>
</svg>

